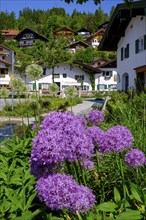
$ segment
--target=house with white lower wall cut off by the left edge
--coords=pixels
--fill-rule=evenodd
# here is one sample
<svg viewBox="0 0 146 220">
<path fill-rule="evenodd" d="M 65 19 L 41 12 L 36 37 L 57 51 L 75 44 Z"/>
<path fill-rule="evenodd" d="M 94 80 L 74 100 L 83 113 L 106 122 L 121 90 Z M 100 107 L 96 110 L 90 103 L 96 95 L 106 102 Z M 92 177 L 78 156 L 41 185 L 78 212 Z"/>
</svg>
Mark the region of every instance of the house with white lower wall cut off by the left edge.
<svg viewBox="0 0 146 220">
<path fill-rule="evenodd" d="M 9 87 L 14 76 L 14 51 L 0 44 L 0 87 Z"/>
</svg>

